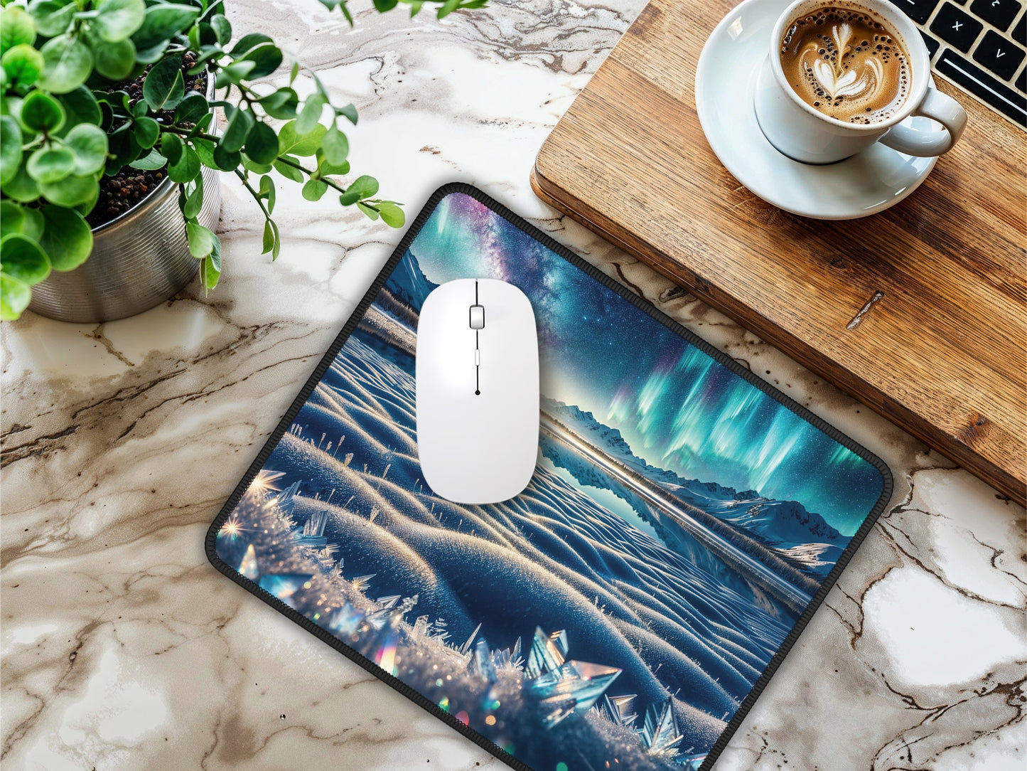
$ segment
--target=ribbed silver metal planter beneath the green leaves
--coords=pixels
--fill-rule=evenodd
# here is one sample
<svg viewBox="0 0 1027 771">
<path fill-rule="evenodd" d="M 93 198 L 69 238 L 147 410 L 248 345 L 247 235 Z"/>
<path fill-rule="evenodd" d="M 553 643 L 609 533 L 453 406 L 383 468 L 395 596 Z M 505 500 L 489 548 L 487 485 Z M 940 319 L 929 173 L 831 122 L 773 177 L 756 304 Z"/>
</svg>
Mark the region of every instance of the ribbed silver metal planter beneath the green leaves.
<svg viewBox="0 0 1027 771">
<path fill-rule="evenodd" d="M 214 229 L 221 182 L 203 167 L 203 208 L 197 219 Z M 92 254 L 67 272 L 53 271 L 32 288 L 29 309 L 67 322 L 135 316 L 175 295 L 196 273 L 179 210 L 179 185 L 166 177 L 138 206 L 92 230 Z"/>
</svg>

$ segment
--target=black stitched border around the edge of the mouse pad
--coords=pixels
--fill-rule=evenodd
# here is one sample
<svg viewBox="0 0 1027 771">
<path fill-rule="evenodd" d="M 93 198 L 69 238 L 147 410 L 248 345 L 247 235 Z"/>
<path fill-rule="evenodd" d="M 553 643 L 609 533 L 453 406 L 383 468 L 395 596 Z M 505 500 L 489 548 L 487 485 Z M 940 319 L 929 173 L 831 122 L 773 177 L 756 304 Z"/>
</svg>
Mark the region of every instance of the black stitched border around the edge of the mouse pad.
<svg viewBox="0 0 1027 771">
<path fill-rule="evenodd" d="M 264 463 L 267 461 L 268 456 L 274 450 L 275 445 L 277 445 L 278 440 L 281 439 L 282 435 L 292 425 L 293 418 L 296 417 L 297 413 L 306 403 L 307 398 L 310 396 L 311 392 L 320 381 L 320 378 L 324 376 L 325 372 L 332 365 L 332 362 L 335 361 L 336 356 L 339 355 L 339 351 L 342 348 L 343 344 L 345 344 L 346 340 L 349 338 L 349 335 L 352 334 L 354 329 L 356 329 L 356 325 L 364 317 L 364 314 L 367 311 L 368 307 L 374 301 L 375 297 L 378 294 L 378 291 L 382 288 L 382 286 L 384 286 L 385 282 L 388 280 L 389 276 L 395 268 L 396 264 L 398 264 L 400 260 L 403 259 L 403 255 L 407 252 L 407 249 L 410 248 L 410 245 L 417 236 L 417 233 L 420 231 L 421 227 L 424 225 L 428 217 L 434 211 L 435 206 L 438 206 L 439 201 L 442 200 L 444 197 L 455 192 L 464 193 L 477 199 L 479 203 L 484 204 L 493 212 L 502 217 L 504 220 L 509 222 L 511 225 L 520 228 L 525 233 L 527 233 L 531 237 L 541 243 L 542 246 L 546 247 L 550 251 L 555 252 L 556 254 L 566 259 L 575 267 L 579 268 L 580 270 L 583 270 L 593 279 L 603 284 L 603 286 L 605 286 L 607 289 L 616 292 L 618 295 L 630 301 L 640 310 L 644 310 L 646 314 L 648 314 L 650 317 L 658 321 L 660 324 L 670 329 L 672 332 L 683 337 L 690 344 L 694 345 L 695 347 L 699 348 L 707 355 L 711 356 L 714 360 L 716 360 L 720 364 L 723 364 L 724 366 L 728 367 L 735 374 L 739 375 L 740 377 L 744 377 L 747 382 L 751 383 L 752 386 L 755 386 L 764 394 L 772 397 L 774 400 L 776 400 L 785 407 L 788 407 L 790 410 L 795 412 L 797 415 L 799 415 L 799 417 L 804 419 L 806 423 L 812 425 L 816 429 L 820 429 L 825 434 L 834 439 L 836 442 L 850 449 L 857 455 L 859 455 L 860 457 L 862 457 L 863 460 L 867 461 L 872 466 L 874 466 L 874 468 L 876 468 L 881 474 L 882 488 L 881 488 L 880 499 L 874 505 L 874 508 L 871 510 L 870 514 L 867 516 L 863 524 L 860 526 L 860 529 L 858 529 L 855 535 L 852 536 L 848 546 L 845 548 L 845 551 L 842 552 L 840 557 L 838 557 L 838 561 L 835 563 L 834 568 L 824 580 L 824 583 L 821 584 L 821 588 L 816 591 L 816 593 L 813 595 L 813 598 L 809 601 L 809 604 L 806 605 L 805 610 L 799 616 L 798 620 L 795 623 L 795 626 L 792 627 L 792 630 L 788 633 L 788 636 L 785 637 L 785 641 L 782 642 L 781 648 L 777 649 L 777 653 L 774 654 L 774 657 L 770 660 L 770 663 L 767 664 L 766 668 L 763 670 L 763 673 L 760 675 L 760 678 L 756 682 L 756 685 L 753 686 L 752 690 L 743 700 L 741 704 L 738 706 L 738 709 L 732 717 L 730 723 L 727 724 L 727 727 L 721 733 L 720 737 L 714 743 L 713 747 L 711 747 L 707 756 L 707 760 L 702 763 L 702 766 L 699 769 L 699 771 L 710 771 L 710 769 L 713 767 L 713 764 L 716 762 L 717 757 L 727 745 L 728 740 L 731 738 L 734 732 L 737 731 L 738 726 L 741 724 L 743 720 L 745 720 L 745 717 L 749 712 L 753 703 L 763 692 L 763 689 L 766 688 L 766 685 L 770 681 L 770 677 L 776 671 L 777 667 L 781 666 L 781 663 L 785 660 L 785 657 L 788 655 L 788 652 L 791 650 L 792 646 L 795 645 L 796 639 L 798 639 L 799 635 L 802 633 L 802 630 L 809 622 L 809 619 L 812 617 L 813 613 L 824 601 L 824 598 L 827 596 L 827 593 L 831 590 L 831 587 L 834 586 L 835 582 L 838 580 L 838 576 L 845 568 L 845 565 L 848 564 L 848 561 L 852 558 L 852 555 L 855 553 L 855 550 L 860 547 L 860 544 L 863 543 L 864 539 L 867 537 L 867 534 L 870 531 L 870 529 L 874 526 L 874 523 L 877 521 L 878 516 L 880 516 L 881 512 L 884 510 L 885 504 L 891 498 L 891 492 L 895 484 L 891 478 L 891 472 L 888 470 L 888 467 L 884 464 L 884 462 L 881 461 L 879 457 L 877 457 L 877 455 L 874 455 L 865 447 L 852 441 L 850 438 L 842 434 L 836 428 L 826 423 L 823 418 L 814 415 L 812 412 L 810 412 L 808 409 L 803 407 L 801 404 L 796 402 L 791 397 L 786 396 L 777 389 L 773 388 L 770 383 L 762 379 L 759 375 L 743 367 L 734 359 L 730 358 L 729 356 L 719 351 L 718 348 L 715 348 L 709 342 L 707 342 L 702 338 L 696 336 L 690 330 L 678 324 L 676 321 L 664 315 L 662 311 L 658 310 L 654 305 L 650 304 L 644 298 L 639 297 L 631 290 L 626 289 L 625 287 L 623 287 L 622 285 L 618 284 L 616 281 L 611 279 L 609 276 L 601 271 L 599 268 L 582 260 L 580 257 L 578 257 L 569 249 L 567 249 L 567 247 L 557 243 L 553 237 L 550 237 L 546 233 L 543 233 L 541 230 L 539 230 L 537 227 L 532 225 L 527 220 L 514 214 L 506 207 L 494 200 L 491 196 L 482 192 L 477 187 L 473 187 L 463 182 L 453 182 L 448 185 L 443 185 L 431 194 L 431 197 L 428 198 L 427 203 L 424 205 L 424 208 L 417 215 L 417 219 L 414 220 L 414 222 L 410 226 L 410 229 L 407 230 L 407 233 L 403 236 L 403 240 L 396 246 L 395 251 L 392 252 L 392 255 L 391 257 L 389 257 L 388 262 L 385 263 L 384 267 L 381 269 L 381 272 L 378 273 L 378 277 L 371 285 L 371 288 L 367 291 L 367 293 L 364 295 L 364 298 L 353 309 L 353 313 L 346 322 L 346 325 L 342 328 L 342 331 L 339 332 L 339 335 L 332 342 L 332 345 L 329 347 L 328 353 L 326 353 L 325 356 L 321 358 L 320 362 L 318 362 L 317 366 L 314 368 L 313 373 L 310 375 L 309 379 L 307 379 L 306 383 L 304 383 L 303 389 L 300 391 L 299 395 L 297 395 L 296 399 L 290 405 L 289 409 L 286 410 L 286 414 L 282 416 L 281 420 L 278 421 L 277 428 L 275 428 L 271 436 L 268 437 L 268 440 L 267 442 L 264 443 L 264 446 L 261 448 L 260 453 L 257 455 L 253 464 L 250 465 L 250 469 L 246 471 L 245 475 L 239 481 L 238 485 L 236 485 L 235 489 L 232 491 L 232 494 L 228 497 L 228 501 L 225 502 L 225 505 L 222 507 L 217 518 L 211 524 L 211 527 L 206 531 L 206 544 L 205 544 L 206 557 L 207 559 L 211 560 L 211 563 L 215 567 L 217 567 L 221 573 L 223 573 L 228 578 L 232 579 L 232 581 L 245 588 L 252 594 L 263 599 L 265 602 L 267 602 L 272 608 L 282 613 L 286 617 L 288 617 L 292 621 L 302 626 L 304 629 L 306 629 L 308 632 L 316 636 L 318 639 L 322 640 L 324 642 L 327 642 L 336 651 L 346 656 L 346 658 L 359 664 L 367 671 L 371 672 L 376 677 L 381 680 L 383 683 L 387 684 L 394 690 L 402 693 L 404 696 L 406 696 L 408 699 L 416 703 L 418 706 L 423 707 L 424 709 L 426 709 L 431 714 L 439 718 L 441 721 L 443 721 L 450 727 L 459 731 L 461 734 L 466 736 L 468 739 L 473 741 L 483 749 L 488 750 L 496 758 L 503 761 L 511 768 L 517 769 L 518 771 L 533 771 L 523 761 L 518 760 L 506 750 L 494 744 L 492 741 L 485 738 L 485 736 L 478 733 L 478 731 L 476 731 L 474 729 L 470 728 L 469 726 L 465 726 L 463 723 L 456 720 L 456 718 L 454 718 L 452 714 L 440 708 L 438 704 L 435 704 L 432 701 L 429 701 L 419 691 L 415 690 L 411 686 L 408 686 L 406 683 L 398 680 L 397 677 L 392 676 L 384 669 L 382 669 L 380 666 L 375 664 L 373 661 L 365 658 L 359 653 L 354 651 L 352 648 L 345 645 L 337 637 L 333 636 L 327 630 L 317 626 L 308 618 L 306 618 L 305 616 L 301 615 L 294 609 L 287 605 L 284 602 L 275 597 L 273 594 L 262 589 L 253 581 L 250 581 L 249 579 L 244 578 L 241 574 L 239 574 L 238 571 L 236 571 L 234 567 L 231 567 L 224 560 L 222 560 L 215 548 L 215 543 L 218 537 L 218 530 L 221 529 L 221 525 L 231 515 L 232 511 L 235 509 L 236 504 L 239 502 L 239 499 L 242 497 L 242 493 L 245 491 L 246 487 L 250 486 L 250 482 L 257 475 L 257 472 L 259 472 L 263 468 Z"/>
</svg>

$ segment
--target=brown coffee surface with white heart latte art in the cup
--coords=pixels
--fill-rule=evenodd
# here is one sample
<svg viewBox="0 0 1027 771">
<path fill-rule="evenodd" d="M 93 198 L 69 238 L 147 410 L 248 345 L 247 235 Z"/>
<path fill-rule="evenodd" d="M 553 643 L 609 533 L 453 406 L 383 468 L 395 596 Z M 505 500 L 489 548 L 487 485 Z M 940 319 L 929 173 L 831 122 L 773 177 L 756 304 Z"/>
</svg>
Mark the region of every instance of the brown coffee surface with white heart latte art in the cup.
<svg viewBox="0 0 1027 771">
<path fill-rule="evenodd" d="M 909 54 L 898 35 L 858 7 L 803 13 L 781 40 L 785 77 L 806 104 L 838 120 L 887 120 L 909 95 Z"/>
</svg>

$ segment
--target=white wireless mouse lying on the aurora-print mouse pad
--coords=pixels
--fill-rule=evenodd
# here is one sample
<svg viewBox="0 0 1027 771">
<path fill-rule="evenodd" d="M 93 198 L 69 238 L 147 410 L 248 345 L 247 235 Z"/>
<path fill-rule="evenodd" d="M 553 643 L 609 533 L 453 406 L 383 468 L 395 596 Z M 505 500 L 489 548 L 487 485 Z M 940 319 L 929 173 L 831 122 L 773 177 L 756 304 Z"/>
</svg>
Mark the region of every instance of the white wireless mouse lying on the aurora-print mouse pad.
<svg viewBox="0 0 1027 771">
<path fill-rule="evenodd" d="M 459 504 L 520 493 L 538 453 L 538 334 L 524 292 L 495 279 L 436 287 L 421 306 L 415 366 L 428 486 Z"/>
</svg>

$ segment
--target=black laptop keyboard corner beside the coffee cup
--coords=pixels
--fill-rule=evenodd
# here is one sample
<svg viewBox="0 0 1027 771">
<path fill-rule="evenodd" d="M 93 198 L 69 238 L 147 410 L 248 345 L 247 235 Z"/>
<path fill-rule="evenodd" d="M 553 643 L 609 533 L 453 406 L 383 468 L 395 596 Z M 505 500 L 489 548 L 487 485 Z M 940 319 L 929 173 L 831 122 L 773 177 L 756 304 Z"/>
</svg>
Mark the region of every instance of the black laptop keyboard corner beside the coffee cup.
<svg viewBox="0 0 1027 771">
<path fill-rule="evenodd" d="M 1027 11 L 1020 0 L 892 2 L 920 28 L 935 72 L 1027 128 Z"/>
</svg>

